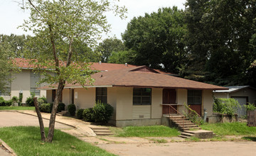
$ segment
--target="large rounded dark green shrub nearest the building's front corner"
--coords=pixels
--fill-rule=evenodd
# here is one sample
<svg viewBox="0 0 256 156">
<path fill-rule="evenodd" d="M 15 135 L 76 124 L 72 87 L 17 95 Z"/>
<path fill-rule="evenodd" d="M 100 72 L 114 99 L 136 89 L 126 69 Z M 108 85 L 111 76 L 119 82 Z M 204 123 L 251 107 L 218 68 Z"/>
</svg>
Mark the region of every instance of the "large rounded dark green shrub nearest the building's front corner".
<svg viewBox="0 0 256 156">
<path fill-rule="evenodd" d="M 112 116 L 114 108 L 110 104 L 103 104 L 98 101 L 92 110 L 96 122 L 107 123 Z"/>
</svg>

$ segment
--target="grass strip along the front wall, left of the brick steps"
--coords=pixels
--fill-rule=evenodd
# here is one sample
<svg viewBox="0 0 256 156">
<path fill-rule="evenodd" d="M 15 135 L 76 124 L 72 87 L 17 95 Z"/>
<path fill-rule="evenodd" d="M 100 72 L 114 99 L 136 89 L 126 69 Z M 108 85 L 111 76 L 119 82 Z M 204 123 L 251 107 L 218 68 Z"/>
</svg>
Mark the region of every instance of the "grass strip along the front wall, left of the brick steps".
<svg viewBox="0 0 256 156">
<path fill-rule="evenodd" d="M 112 130 L 110 128 L 110 130 Z M 176 128 L 166 126 L 128 126 L 112 130 L 118 137 L 173 137 L 180 133 Z"/>
</svg>

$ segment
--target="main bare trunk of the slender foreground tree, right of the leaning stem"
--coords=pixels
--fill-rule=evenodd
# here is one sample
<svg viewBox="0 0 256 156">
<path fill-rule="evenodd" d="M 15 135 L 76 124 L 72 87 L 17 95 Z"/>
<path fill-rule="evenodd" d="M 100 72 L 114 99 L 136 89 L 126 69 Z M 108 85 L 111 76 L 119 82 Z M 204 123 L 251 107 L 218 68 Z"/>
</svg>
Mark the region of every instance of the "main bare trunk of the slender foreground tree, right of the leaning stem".
<svg viewBox="0 0 256 156">
<path fill-rule="evenodd" d="M 48 143 L 51 143 L 53 141 L 55 118 L 56 118 L 58 104 L 60 101 L 60 96 L 61 96 L 63 88 L 64 88 L 64 84 L 65 84 L 65 81 L 59 82 L 59 84 L 58 84 L 57 93 L 56 93 L 54 103 L 53 103 L 53 109 L 50 114 L 49 131 L 48 131 L 48 137 L 46 138 L 46 142 L 48 142 Z"/>
</svg>

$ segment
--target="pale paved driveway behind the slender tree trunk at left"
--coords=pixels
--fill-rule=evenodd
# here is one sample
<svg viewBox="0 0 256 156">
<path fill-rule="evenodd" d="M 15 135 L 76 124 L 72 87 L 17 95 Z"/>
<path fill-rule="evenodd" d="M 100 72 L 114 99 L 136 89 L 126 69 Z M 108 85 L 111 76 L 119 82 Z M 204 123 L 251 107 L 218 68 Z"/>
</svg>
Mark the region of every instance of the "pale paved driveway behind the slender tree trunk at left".
<svg viewBox="0 0 256 156">
<path fill-rule="evenodd" d="M 43 125 L 49 126 L 49 121 L 43 119 Z M 0 128 L 9 126 L 39 126 L 38 118 L 18 112 L 0 112 Z M 56 129 L 70 129 L 73 127 L 62 123 L 55 123 Z"/>
</svg>

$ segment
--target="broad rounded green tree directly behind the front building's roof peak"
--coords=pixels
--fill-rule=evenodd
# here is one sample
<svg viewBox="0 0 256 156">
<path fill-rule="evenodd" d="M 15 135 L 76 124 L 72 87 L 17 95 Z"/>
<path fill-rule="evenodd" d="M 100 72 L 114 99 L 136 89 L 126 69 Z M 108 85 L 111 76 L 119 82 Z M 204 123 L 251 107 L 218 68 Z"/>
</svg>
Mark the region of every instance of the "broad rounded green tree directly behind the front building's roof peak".
<svg viewBox="0 0 256 156">
<path fill-rule="evenodd" d="M 135 65 L 177 73 L 186 62 L 184 13 L 177 7 L 134 17 L 122 34 L 124 45 L 134 51 Z"/>
</svg>

